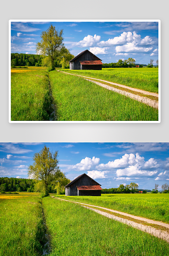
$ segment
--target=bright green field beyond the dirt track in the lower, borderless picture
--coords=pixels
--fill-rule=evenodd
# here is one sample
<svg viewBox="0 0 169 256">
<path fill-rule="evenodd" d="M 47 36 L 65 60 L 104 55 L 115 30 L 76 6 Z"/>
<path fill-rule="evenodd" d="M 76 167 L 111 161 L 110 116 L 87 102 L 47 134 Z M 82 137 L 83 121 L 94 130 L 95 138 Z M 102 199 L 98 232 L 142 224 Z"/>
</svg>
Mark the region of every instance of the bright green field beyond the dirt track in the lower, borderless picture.
<svg viewBox="0 0 169 256">
<path fill-rule="evenodd" d="M 153 194 L 107 194 L 107 196 L 102 195 L 101 197 L 59 197 L 169 223 L 169 195 L 165 194 L 158 196 Z"/>
</svg>

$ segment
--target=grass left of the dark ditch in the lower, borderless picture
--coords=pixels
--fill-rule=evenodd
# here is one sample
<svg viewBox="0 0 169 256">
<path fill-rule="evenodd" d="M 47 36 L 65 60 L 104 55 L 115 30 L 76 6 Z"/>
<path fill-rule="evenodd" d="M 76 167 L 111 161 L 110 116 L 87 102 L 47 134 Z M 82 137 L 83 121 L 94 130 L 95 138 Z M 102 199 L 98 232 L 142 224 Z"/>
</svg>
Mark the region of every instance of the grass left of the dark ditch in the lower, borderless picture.
<svg viewBox="0 0 169 256">
<path fill-rule="evenodd" d="M 41 255 L 44 231 L 42 206 L 35 193 L 1 195 L 1 256 Z"/>
</svg>

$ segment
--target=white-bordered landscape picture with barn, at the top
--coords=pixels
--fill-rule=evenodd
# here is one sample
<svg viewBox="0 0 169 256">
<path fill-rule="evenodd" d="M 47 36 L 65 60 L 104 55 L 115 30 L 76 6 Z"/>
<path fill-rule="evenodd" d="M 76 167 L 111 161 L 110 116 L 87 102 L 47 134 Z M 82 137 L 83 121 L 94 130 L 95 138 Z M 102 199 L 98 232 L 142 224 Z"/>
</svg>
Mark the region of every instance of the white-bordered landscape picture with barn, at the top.
<svg viewBox="0 0 169 256">
<path fill-rule="evenodd" d="M 9 20 L 9 122 L 159 123 L 160 20 Z"/>
</svg>

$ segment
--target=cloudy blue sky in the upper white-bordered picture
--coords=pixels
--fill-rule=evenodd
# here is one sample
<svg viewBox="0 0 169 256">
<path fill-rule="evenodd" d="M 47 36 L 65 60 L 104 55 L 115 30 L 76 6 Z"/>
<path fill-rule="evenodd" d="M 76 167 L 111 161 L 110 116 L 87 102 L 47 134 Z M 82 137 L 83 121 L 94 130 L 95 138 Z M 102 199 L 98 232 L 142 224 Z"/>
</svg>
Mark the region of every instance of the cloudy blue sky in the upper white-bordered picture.
<svg viewBox="0 0 169 256">
<path fill-rule="evenodd" d="M 50 24 L 64 31 L 71 54 L 88 49 L 103 63 L 134 58 L 148 64 L 158 59 L 158 22 L 12 22 L 11 52 L 36 54 L 36 43 Z"/>
</svg>

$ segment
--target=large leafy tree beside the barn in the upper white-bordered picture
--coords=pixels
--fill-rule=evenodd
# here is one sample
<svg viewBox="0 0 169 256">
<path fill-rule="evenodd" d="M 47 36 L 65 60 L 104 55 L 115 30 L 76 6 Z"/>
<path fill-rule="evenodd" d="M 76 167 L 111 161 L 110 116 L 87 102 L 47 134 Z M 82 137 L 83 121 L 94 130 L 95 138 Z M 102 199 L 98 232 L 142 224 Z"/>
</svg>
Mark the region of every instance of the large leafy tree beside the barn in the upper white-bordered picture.
<svg viewBox="0 0 169 256">
<path fill-rule="evenodd" d="M 56 30 L 54 26 L 43 31 L 42 40 L 37 43 L 36 51 L 45 57 L 48 57 L 49 70 L 54 70 L 54 60 L 58 58 L 60 52 L 65 48 L 63 43 L 63 30 Z"/>
</svg>

